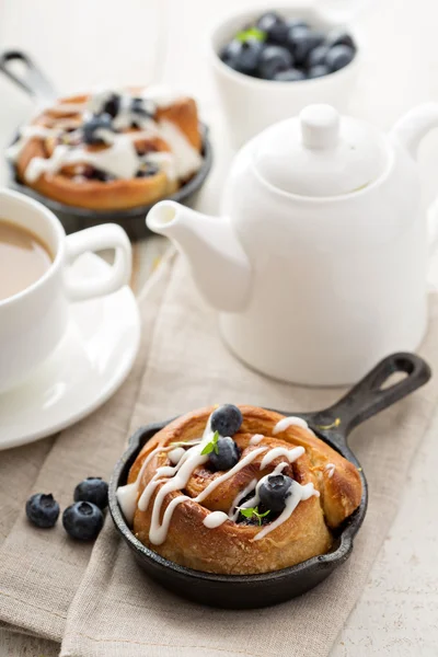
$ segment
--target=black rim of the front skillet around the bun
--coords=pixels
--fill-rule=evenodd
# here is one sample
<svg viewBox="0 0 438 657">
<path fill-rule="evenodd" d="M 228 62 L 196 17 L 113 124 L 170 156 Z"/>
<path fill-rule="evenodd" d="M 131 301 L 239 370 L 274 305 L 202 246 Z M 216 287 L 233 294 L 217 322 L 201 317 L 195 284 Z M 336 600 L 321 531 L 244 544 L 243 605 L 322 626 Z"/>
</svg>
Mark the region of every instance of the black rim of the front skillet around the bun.
<svg viewBox="0 0 438 657">
<path fill-rule="evenodd" d="M 278 413 L 281 413 L 281 412 L 278 412 Z M 281 414 L 285 415 L 285 413 L 281 413 Z M 299 413 L 297 413 L 295 415 L 297 417 L 300 417 Z M 324 566 L 326 566 L 327 568 L 332 568 L 334 564 L 341 565 L 343 562 L 345 562 L 348 558 L 348 556 L 353 550 L 353 539 L 359 531 L 360 526 L 364 522 L 365 515 L 367 512 L 367 506 L 368 506 L 367 480 L 360 468 L 359 461 L 356 459 L 356 457 L 353 454 L 353 452 L 348 449 L 348 447 L 344 448 L 344 453 L 343 453 L 343 451 L 339 449 L 338 446 L 336 446 L 335 443 L 332 443 L 332 441 L 330 440 L 330 438 L 327 436 L 322 435 L 320 431 L 315 430 L 312 427 L 311 423 L 309 423 L 310 428 L 312 430 L 314 430 L 314 433 L 318 435 L 319 438 L 321 438 L 321 440 L 323 440 L 324 442 L 330 445 L 330 447 L 332 447 L 335 451 L 341 453 L 348 461 L 351 461 L 351 463 L 354 463 L 354 465 L 356 465 L 356 468 L 359 469 L 359 475 L 360 475 L 360 480 L 361 480 L 361 484 L 362 484 L 362 496 L 360 499 L 360 505 L 351 514 L 351 516 L 346 520 L 346 525 L 343 528 L 343 530 L 341 531 L 339 537 L 338 537 L 339 544 L 335 550 L 333 550 L 332 552 L 328 552 L 326 554 L 313 556 L 313 557 L 311 557 L 304 562 L 301 562 L 295 566 L 289 566 L 287 568 L 281 568 L 279 570 L 270 570 L 269 573 L 260 573 L 260 574 L 254 574 L 254 575 L 218 575 L 216 573 L 204 573 L 203 570 L 195 570 L 194 568 L 181 566 L 180 564 L 176 564 L 175 562 L 172 562 L 170 560 L 162 557 L 160 554 L 158 554 L 153 550 L 150 550 L 149 548 L 143 545 L 138 539 L 136 539 L 136 537 L 129 529 L 128 525 L 126 523 L 125 518 L 122 512 L 122 509 L 118 506 L 116 491 L 119 485 L 119 480 L 120 480 L 123 470 L 128 466 L 130 468 L 131 464 L 134 463 L 135 459 L 137 458 L 137 454 L 142 449 L 143 445 L 146 445 L 146 442 L 148 440 L 150 440 L 159 430 L 161 430 L 168 424 L 173 422 L 173 419 L 175 419 L 175 418 L 171 418 L 171 419 L 164 420 L 162 423 L 149 424 L 149 425 L 146 425 L 146 426 L 141 427 L 140 429 L 138 429 L 130 437 L 128 448 L 126 449 L 126 451 L 124 452 L 122 458 L 116 463 L 114 471 L 112 473 L 111 480 L 110 480 L 108 508 L 110 508 L 110 512 L 113 518 L 114 525 L 115 525 L 117 531 L 122 534 L 122 537 L 125 539 L 125 541 L 129 544 L 129 548 L 131 550 L 134 550 L 135 552 L 137 552 L 141 556 L 142 560 L 152 561 L 155 565 L 161 566 L 162 568 L 166 568 L 168 570 L 173 570 L 177 575 L 185 575 L 187 577 L 192 577 L 192 578 L 195 578 L 198 580 L 204 580 L 204 581 L 215 581 L 215 583 L 232 585 L 232 584 L 238 584 L 238 583 L 239 584 L 256 584 L 256 583 L 262 583 L 262 581 L 287 579 L 288 577 L 290 577 L 292 575 L 297 575 L 298 573 L 306 573 L 307 570 L 313 569 L 315 567 L 319 569 L 323 568 Z M 309 419 L 309 418 L 307 417 L 307 419 Z M 141 438 L 146 433 L 150 433 L 151 435 L 145 441 L 145 443 L 141 445 L 140 443 Z"/>
</svg>

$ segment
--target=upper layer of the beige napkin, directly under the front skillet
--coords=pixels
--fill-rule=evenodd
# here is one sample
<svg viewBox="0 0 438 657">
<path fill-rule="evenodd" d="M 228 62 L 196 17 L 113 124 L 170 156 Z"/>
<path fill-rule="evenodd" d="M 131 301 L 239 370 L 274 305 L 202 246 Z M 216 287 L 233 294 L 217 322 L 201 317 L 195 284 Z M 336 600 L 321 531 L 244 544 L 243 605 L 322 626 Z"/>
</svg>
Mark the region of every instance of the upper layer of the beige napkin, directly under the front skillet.
<svg viewBox="0 0 438 657">
<path fill-rule="evenodd" d="M 433 366 L 438 364 L 436 308 L 434 299 L 422 350 Z M 148 579 L 107 521 L 68 613 L 62 657 L 327 655 L 394 516 L 437 392 L 433 380 L 356 430 L 351 445 L 368 476 L 369 511 L 350 560 L 323 585 L 299 599 L 256 611 L 194 604 Z M 235 360 L 218 337 L 215 313 L 176 260 L 132 407 L 131 430 L 205 404 L 238 402 L 297 412 L 322 408 L 338 395 L 335 390 L 269 380 Z"/>
</svg>

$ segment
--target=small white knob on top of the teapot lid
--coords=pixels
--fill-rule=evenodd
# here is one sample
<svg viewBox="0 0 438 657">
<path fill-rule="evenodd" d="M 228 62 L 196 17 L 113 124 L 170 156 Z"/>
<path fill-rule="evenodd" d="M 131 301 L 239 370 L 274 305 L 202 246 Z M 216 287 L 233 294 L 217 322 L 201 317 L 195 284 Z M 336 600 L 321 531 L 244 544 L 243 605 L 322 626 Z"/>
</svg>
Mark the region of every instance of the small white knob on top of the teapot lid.
<svg viewBox="0 0 438 657">
<path fill-rule="evenodd" d="M 300 114 L 301 138 L 306 148 L 334 147 L 339 137 L 339 114 L 332 105 L 304 107 Z"/>
</svg>

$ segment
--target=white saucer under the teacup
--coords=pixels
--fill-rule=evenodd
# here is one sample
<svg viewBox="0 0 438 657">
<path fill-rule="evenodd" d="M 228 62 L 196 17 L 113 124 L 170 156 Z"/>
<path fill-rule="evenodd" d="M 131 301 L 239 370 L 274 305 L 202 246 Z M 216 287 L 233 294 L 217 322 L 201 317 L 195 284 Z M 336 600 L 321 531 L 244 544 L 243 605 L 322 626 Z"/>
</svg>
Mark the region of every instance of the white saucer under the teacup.
<svg viewBox="0 0 438 657">
<path fill-rule="evenodd" d="M 108 265 L 87 253 L 77 276 Z M 89 415 L 123 383 L 137 356 L 140 316 L 131 290 L 72 303 L 68 331 L 51 356 L 22 385 L 0 394 L 0 449 L 50 436 Z"/>
</svg>

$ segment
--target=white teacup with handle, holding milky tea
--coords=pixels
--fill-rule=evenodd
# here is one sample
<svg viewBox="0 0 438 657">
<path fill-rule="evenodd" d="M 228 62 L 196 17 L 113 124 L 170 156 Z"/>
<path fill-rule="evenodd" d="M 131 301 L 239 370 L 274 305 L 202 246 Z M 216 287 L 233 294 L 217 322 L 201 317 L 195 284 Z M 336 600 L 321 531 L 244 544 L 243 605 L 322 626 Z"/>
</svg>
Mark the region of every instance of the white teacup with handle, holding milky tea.
<svg viewBox="0 0 438 657">
<path fill-rule="evenodd" d="M 0 219 L 36 235 L 53 262 L 44 275 L 21 292 L 0 300 L 0 392 L 10 389 L 41 365 L 66 332 L 68 307 L 74 301 L 110 295 L 126 285 L 131 270 L 131 247 L 116 224 L 95 226 L 72 235 L 42 204 L 16 192 L 0 189 Z M 82 253 L 114 249 L 107 275 L 74 279 L 69 265 Z"/>
</svg>

